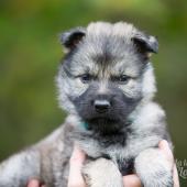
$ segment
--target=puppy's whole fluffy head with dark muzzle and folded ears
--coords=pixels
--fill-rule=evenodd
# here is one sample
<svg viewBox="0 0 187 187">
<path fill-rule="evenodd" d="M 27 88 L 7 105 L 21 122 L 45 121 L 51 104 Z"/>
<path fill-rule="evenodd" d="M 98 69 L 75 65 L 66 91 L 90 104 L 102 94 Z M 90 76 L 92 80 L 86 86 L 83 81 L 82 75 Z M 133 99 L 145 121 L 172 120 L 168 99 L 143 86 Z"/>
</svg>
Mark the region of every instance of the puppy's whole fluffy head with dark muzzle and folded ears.
<svg viewBox="0 0 187 187">
<path fill-rule="evenodd" d="M 90 129 L 124 127 L 134 108 L 153 96 L 153 36 L 127 23 L 92 23 L 65 33 L 62 42 L 68 52 L 57 77 L 61 105 Z"/>
</svg>

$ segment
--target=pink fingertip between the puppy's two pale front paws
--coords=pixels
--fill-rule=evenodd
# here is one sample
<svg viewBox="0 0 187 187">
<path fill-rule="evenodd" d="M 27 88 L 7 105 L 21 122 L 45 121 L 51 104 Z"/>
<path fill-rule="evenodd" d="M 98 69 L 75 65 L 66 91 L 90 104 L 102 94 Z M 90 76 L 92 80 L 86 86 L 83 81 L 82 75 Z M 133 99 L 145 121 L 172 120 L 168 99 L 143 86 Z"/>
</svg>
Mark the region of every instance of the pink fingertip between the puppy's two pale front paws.
<svg viewBox="0 0 187 187">
<path fill-rule="evenodd" d="M 141 180 L 136 175 L 127 175 L 123 177 L 125 187 L 141 187 Z"/>
</svg>

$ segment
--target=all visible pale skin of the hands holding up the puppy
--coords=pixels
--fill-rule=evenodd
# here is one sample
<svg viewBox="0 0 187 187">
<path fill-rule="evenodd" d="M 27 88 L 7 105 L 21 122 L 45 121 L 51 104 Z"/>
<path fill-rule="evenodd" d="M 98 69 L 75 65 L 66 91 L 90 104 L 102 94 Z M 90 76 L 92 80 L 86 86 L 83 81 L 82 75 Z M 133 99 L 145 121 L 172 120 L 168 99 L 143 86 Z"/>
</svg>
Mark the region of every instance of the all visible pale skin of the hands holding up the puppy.
<svg viewBox="0 0 187 187">
<path fill-rule="evenodd" d="M 158 144 L 160 150 L 167 157 L 170 163 L 170 168 L 173 168 L 173 178 L 174 178 L 174 187 L 179 187 L 179 179 L 177 174 L 177 168 L 174 162 L 173 153 L 168 146 L 167 141 L 163 140 Z M 67 187 L 86 187 L 84 178 L 81 176 L 81 167 L 85 161 L 85 153 L 79 150 L 77 146 L 74 147 L 74 152 L 70 157 L 70 170 Z M 123 177 L 123 184 L 125 187 L 141 187 L 140 178 L 133 175 L 127 175 Z M 41 185 L 38 180 L 32 179 L 29 182 L 28 187 L 45 187 Z"/>
</svg>

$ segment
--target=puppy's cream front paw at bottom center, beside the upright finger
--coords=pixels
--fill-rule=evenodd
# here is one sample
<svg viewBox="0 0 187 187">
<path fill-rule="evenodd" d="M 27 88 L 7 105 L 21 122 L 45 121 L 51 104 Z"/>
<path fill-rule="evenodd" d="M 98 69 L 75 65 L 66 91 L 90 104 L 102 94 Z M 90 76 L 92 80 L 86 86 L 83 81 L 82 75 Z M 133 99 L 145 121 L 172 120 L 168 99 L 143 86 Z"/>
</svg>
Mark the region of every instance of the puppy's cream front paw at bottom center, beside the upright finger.
<svg viewBox="0 0 187 187">
<path fill-rule="evenodd" d="M 123 187 L 118 167 L 106 158 L 87 163 L 82 168 L 82 174 L 89 187 Z"/>
</svg>

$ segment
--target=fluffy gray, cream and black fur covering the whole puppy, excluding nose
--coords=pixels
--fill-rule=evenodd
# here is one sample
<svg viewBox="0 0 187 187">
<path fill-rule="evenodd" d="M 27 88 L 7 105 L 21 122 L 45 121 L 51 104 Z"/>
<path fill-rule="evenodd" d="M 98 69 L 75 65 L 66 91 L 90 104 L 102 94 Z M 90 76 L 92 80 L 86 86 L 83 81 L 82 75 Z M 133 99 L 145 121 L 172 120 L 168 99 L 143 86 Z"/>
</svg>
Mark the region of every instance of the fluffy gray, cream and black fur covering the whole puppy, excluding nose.
<svg viewBox="0 0 187 187">
<path fill-rule="evenodd" d="M 145 187 L 172 187 L 172 169 L 157 148 L 163 139 L 172 143 L 165 113 L 153 101 L 156 38 L 125 22 L 97 22 L 65 32 L 61 41 L 66 56 L 56 82 L 69 116 L 48 138 L 0 165 L 0 186 L 23 187 L 36 177 L 65 187 L 76 141 L 88 155 L 88 186 L 122 187 L 121 174 L 136 173 Z M 96 100 L 110 102 L 107 112 L 96 111 Z"/>
</svg>

